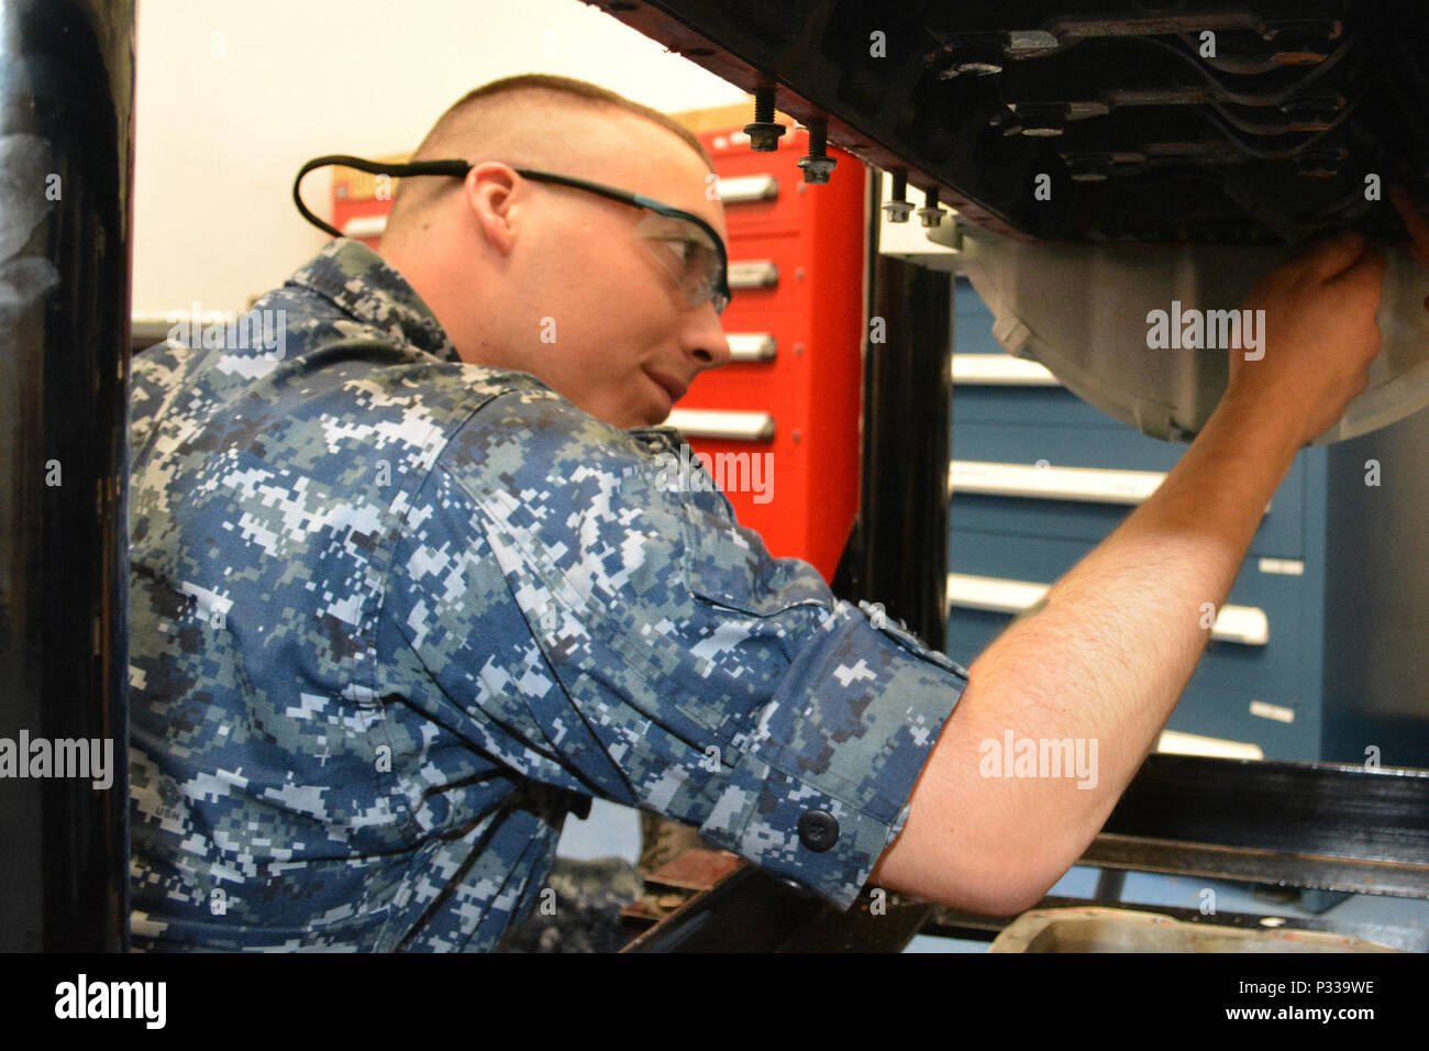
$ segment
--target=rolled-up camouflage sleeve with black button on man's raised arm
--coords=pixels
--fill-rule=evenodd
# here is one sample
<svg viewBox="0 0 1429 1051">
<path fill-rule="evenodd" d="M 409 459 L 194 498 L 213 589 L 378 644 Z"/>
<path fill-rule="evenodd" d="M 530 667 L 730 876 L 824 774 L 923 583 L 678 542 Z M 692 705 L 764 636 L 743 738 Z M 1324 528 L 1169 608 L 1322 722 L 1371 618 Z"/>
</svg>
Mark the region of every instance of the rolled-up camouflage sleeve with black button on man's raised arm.
<svg viewBox="0 0 1429 1051">
<path fill-rule="evenodd" d="M 399 552 L 403 631 L 516 772 L 697 825 L 847 908 L 967 672 L 772 558 L 677 442 L 543 390 L 484 406 Z"/>
</svg>

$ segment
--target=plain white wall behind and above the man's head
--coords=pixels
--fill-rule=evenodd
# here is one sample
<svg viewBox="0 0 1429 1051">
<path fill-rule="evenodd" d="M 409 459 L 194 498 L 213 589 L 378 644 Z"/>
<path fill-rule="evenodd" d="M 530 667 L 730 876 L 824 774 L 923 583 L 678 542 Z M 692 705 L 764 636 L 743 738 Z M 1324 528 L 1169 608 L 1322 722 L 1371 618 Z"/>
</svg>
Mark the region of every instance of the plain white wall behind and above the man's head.
<svg viewBox="0 0 1429 1051">
<path fill-rule="evenodd" d="M 290 199 L 304 160 L 413 150 L 514 73 L 669 112 L 745 99 L 580 0 L 140 0 L 134 312 L 242 310 L 326 240 Z M 320 216 L 329 172 L 303 183 Z"/>
</svg>

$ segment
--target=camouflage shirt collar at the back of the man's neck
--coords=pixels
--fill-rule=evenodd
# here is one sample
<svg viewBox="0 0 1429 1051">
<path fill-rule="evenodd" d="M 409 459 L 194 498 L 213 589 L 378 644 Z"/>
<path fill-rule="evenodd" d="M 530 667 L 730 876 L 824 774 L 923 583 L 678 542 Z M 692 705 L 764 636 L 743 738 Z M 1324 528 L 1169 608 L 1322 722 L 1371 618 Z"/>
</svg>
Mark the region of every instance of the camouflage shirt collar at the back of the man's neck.
<svg viewBox="0 0 1429 1051">
<path fill-rule="evenodd" d="M 446 362 L 462 362 L 442 322 L 407 279 L 362 242 L 339 237 L 300 266 L 289 285 L 326 296 L 349 315 Z"/>
</svg>

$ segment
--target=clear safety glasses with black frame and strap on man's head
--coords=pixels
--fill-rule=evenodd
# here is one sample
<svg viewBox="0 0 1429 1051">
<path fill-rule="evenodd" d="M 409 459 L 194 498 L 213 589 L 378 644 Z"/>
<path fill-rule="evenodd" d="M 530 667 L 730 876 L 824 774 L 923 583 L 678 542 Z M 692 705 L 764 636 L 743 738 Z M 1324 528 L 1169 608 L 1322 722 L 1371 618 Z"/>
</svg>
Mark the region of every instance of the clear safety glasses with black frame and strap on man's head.
<svg viewBox="0 0 1429 1051">
<path fill-rule="evenodd" d="M 302 169 L 299 169 L 297 179 L 293 182 L 293 202 L 297 204 L 297 210 L 307 222 L 313 223 L 320 230 L 326 230 L 334 237 L 342 237 L 342 232 L 314 216 L 299 194 L 299 186 L 303 182 L 303 176 L 316 167 L 323 167 L 324 164 L 344 164 L 347 167 L 354 167 L 359 172 L 392 174 L 399 179 L 423 174 L 454 176 L 464 179 L 466 173 L 473 167 L 473 164 L 464 160 L 424 160 L 409 164 L 380 164 L 377 162 L 363 160 L 362 157 L 349 157 L 342 154 L 316 157 L 307 162 Z M 554 186 L 567 186 L 574 190 L 584 190 L 586 193 L 596 193 L 609 200 L 617 200 L 622 204 L 650 212 L 649 216 L 636 224 L 634 233 L 650 247 L 654 257 L 664 266 L 666 270 L 669 270 L 670 276 L 674 277 L 682 293 L 684 295 L 684 303 L 690 307 L 713 303 L 714 313 L 723 313 L 725 307 L 729 306 L 729 255 L 725 252 L 725 242 L 720 240 L 720 236 L 714 232 L 713 226 L 693 212 L 677 209 L 673 204 L 664 204 L 640 193 L 632 193 L 630 190 L 622 190 L 614 186 L 603 186 L 602 183 L 593 183 L 586 179 L 554 174 L 552 172 L 537 172 L 529 167 L 513 167 L 512 170 L 523 179 L 530 179 L 539 183 L 552 183 Z"/>
</svg>

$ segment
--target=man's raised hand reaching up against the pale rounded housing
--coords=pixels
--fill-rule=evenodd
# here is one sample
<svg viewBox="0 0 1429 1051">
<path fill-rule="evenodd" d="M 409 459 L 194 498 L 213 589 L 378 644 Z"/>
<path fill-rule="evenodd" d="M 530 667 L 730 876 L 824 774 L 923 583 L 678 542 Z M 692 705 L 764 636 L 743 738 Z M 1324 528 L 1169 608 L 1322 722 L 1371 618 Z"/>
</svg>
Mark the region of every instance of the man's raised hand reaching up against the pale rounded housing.
<svg viewBox="0 0 1429 1051">
<path fill-rule="evenodd" d="M 1369 386 L 1379 353 L 1385 257 L 1356 233 L 1333 237 L 1262 280 L 1245 302 L 1265 310 L 1263 356 L 1230 352 L 1228 399 L 1256 415 L 1275 413 L 1299 445 L 1315 440 Z"/>
</svg>

